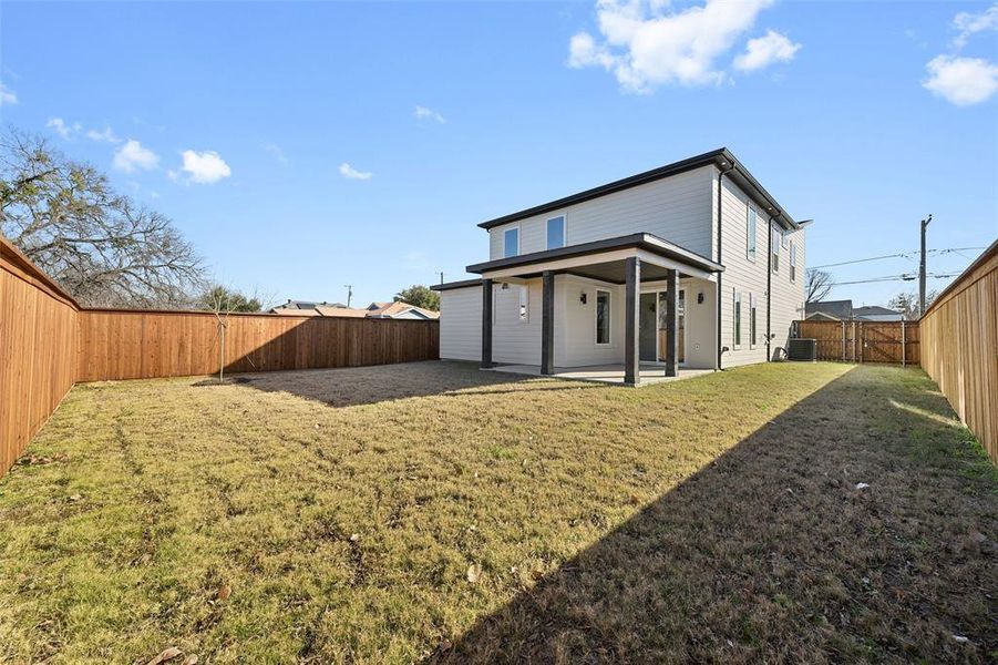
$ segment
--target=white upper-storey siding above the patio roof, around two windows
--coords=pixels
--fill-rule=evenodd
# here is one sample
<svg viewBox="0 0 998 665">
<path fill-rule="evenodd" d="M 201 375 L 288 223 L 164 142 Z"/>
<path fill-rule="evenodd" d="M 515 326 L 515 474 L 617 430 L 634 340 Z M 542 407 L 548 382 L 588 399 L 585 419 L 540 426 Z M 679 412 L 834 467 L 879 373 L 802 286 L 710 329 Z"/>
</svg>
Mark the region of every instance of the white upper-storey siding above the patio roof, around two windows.
<svg viewBox="0 0 998 665">
<path fill-rule="evenodd" d="M 490 259 L 503 257 L 503 233 L 519 226 L 519 253 L 547 249 L 547 221 L 565 215 L 565 241 L 578 245 L 631 233 L 651 233 L 703 256 L 711 255 L 711 178 L 703 166 L 488 231 Z"/>
</svg>

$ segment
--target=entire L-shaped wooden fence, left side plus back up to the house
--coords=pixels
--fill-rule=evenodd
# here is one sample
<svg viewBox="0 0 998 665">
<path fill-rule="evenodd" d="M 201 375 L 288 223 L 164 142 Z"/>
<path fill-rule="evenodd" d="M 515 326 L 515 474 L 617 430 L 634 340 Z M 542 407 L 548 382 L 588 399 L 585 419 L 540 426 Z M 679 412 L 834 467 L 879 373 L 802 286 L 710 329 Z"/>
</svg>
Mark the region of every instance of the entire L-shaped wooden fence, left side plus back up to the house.
<svg viewBox="0 0 998 665">
<path fill-rule="evenodd" d="M 0 237 L 0 477 L 78 381 L 206 375 L 223 366 L 241 372 L 387 365 L 440 355 L 435 320 L 220 319 L 204 311 L 84 309 Z"/>
</svg>

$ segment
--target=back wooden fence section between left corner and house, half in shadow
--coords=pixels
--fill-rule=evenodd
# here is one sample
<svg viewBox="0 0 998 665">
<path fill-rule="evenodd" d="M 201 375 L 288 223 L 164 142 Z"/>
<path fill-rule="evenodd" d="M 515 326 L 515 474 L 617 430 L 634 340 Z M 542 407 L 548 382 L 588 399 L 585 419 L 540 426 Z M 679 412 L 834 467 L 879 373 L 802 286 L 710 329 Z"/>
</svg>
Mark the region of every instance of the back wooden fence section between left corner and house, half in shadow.
<svg viewBox="0 0 998 665">
<path fill-rule="evenodd" d="M 224 323 L 225 326 L 220 325 Z M 438 321 L 82 310 L 78 381 L 358 367 L 439 356 Z"/>
</svg>

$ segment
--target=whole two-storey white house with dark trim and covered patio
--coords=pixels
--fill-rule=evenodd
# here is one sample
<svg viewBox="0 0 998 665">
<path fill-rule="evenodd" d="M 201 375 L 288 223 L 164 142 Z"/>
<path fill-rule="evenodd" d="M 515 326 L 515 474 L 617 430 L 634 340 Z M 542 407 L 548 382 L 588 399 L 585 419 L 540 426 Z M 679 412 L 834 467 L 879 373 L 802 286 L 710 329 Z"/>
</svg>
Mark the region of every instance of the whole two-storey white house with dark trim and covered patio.
<svg viewBox="0 0 998 665">
<path fill-rule="evenodd" d="M 480 224 L 441 295 L 441 358 L 556 368 L 762 362 L 804 315 L 804 224 L 727 149 Z"/>
</svg>

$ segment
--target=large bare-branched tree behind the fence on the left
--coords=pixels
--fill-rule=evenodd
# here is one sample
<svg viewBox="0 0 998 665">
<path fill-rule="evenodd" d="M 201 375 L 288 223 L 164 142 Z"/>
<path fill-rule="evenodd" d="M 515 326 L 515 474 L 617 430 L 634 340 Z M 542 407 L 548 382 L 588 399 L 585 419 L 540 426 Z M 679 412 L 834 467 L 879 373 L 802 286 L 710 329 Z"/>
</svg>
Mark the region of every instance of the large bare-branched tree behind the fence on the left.
<svg viewBox="0 0 998 665">
<path fill-rule="evenodd" d="M 86 306 L 187 307 L 200 286 L 202 259 L 168 217 L 12 129 L 0 135 L 0 233 Z"/>
</svg>

